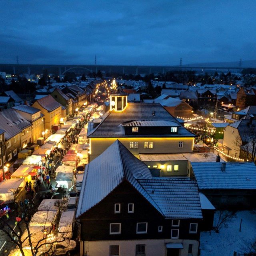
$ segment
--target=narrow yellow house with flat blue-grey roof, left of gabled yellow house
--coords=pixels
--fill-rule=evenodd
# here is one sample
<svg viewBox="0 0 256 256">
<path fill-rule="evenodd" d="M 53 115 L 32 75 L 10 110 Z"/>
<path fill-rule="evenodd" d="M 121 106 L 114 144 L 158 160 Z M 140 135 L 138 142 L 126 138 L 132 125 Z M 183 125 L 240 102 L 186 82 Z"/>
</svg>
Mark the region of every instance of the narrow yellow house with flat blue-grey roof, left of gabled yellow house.
<svg viewBox="0 0 256 256">
<path fill-rule="evenodd" d="M 13 109 L 32 124 L 32 143 L 36 144 L 37 139 L 42 137 L 42 132 L 45 132 L 44 114 L 41 114 L 40 109 L 24 104 L 13 107 Z"/>
</svg>

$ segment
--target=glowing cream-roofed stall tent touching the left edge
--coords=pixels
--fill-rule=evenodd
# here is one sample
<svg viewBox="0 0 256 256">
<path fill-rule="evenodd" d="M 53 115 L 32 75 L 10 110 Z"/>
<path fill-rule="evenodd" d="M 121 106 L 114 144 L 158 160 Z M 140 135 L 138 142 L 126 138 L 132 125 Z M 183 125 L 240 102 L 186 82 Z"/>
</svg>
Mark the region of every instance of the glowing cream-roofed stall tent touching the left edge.
<svg viewBox="0 0 256 256">
<path fill-rule="evenodd" d="M 0 183 L 0 200 L 6 203 L 14 202 L 14 192 L 25 185 L 24 178 L 3 180 Z"/>
</svg>

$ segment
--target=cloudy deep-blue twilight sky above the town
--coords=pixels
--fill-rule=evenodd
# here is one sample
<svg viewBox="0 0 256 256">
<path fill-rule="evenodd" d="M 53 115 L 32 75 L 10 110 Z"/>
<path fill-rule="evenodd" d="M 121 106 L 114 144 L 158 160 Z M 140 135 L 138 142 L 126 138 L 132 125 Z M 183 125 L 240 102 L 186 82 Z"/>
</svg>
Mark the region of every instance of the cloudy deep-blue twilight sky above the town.
<svg viewBox="0 0 256 256">
<path fill-rule="evenodd" d="M 254 60 L 255 10 L 255 0 L 2 0 L 0 63 Z"/>
</svg>

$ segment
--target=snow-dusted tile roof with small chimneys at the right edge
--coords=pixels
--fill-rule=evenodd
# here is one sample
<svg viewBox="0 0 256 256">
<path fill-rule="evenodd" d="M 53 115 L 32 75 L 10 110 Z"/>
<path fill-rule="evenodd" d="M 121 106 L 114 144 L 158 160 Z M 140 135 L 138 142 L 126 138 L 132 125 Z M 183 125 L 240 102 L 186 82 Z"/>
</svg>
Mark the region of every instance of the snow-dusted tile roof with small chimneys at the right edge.
<svg viewBox="0 0 256 256">
<path fill-rule="evenodd" d="M 256 189 L 253 162 L 192 162 L 199 189 Z M 225 171 L 222 171 L 222 166 Z"/>
</svg>

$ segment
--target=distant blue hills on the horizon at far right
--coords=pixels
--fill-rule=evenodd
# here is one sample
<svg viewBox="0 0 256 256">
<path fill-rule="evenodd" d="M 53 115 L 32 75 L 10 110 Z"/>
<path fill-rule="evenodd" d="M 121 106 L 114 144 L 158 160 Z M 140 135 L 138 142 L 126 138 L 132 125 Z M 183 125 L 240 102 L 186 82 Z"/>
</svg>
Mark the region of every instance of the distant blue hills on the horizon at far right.
<svg viewBox="0 0 256 256">
<path fill-rule="evenodd" d="M 233 62 L 205 62 L 205 63 L 194 63 L 183 66 L 202 66 L 202 67 L 239 67 L 239 61 Z M 242 68 L 256 68 L 256 60 L 242 60 Z"/>
</svg>

